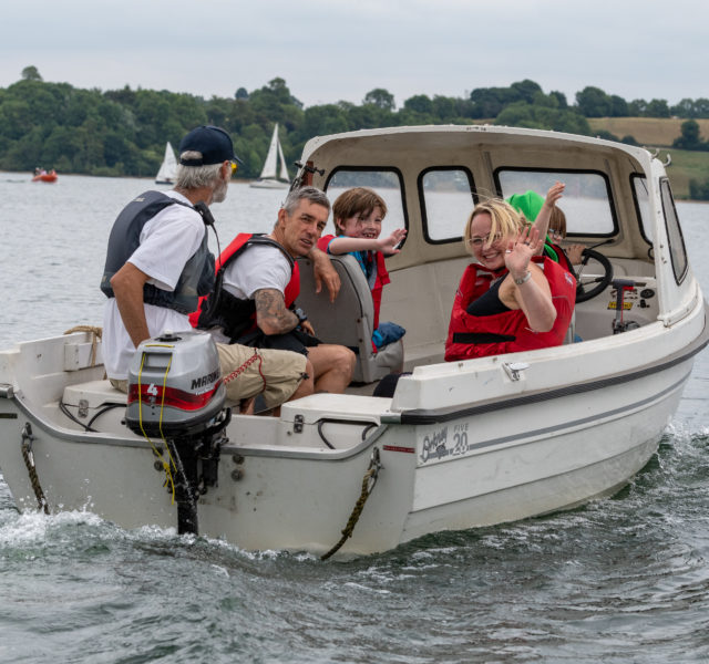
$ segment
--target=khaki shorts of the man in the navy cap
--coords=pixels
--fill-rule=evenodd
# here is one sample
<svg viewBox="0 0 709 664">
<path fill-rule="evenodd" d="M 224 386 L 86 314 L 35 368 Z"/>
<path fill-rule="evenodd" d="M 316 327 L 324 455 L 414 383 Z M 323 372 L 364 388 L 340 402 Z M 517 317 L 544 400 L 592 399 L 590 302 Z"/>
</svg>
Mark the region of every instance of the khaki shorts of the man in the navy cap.
<svg viewBox="0 0 709 664">
<path fill-rule="evenodd" d="M 217 343 L 227 400 L 264 395 L 266 407 L 288 401 L 306 373 L 306 356 L 291 351 Z"/>
</svg>

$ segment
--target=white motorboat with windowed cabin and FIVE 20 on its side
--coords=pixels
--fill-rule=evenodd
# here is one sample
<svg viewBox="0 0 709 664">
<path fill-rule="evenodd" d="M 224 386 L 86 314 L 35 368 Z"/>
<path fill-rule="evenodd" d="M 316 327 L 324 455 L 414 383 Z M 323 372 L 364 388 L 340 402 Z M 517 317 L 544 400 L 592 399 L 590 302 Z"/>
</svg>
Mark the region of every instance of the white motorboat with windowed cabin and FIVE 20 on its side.
<svg viewBox="0 0 709 664">
<path fill-rule="evenodd" d="M 658 159 L 553 132 L 427 126 L 316 137 L 302 164 L 298 183 L 332 199 L 373 187 L 389 207 L 386 225 L 408 228 L 388 259 L 381 312 L 407 329 L 412 373 L 393 396 L 370 396 L 387 354 L 372 355 L 363 274 L 339 259 L 335 305 L 307 282 L 300 303 L 323 341 L 359 347 L 360 382 L 284 404 L 279 417 L 220 421 L 227 439 L 183 464 L 192 480 L 173 502 L 153 448 L 172 449 L 178 434 L 148 442 L 122 423 L 125 397 L 103 380 L 100 341 L 75 332 L 19 343 L 0 352 L 0 468 L 19 509 L 85 509 L 125 528 L 179 525 L 246 550 L 321 554 L 341 543 L 340 553 L 361 554 L 572 508 L 614 494 L 647 464 L 709 342 Z M 545 193 L 555 180 L 566 183 L 569 239 L 602 261 L 582 267 L 576 342 L 444 363 L 474 201 Z"/>
</svg>

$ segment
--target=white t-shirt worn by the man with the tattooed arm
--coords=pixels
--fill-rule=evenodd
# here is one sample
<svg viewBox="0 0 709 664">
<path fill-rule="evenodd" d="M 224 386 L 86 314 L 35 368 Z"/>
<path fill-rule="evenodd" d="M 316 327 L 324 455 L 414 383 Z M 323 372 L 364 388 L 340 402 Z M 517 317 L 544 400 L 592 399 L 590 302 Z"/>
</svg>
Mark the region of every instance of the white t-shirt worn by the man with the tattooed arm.
<svg viewBox="0 0 709 664">
<path fill-rule="evenodd" d="M 284 252 L 268 245 L 249 247 L 224 270 L 224 289 L 242 300 L 250 300 L 263 288 L 286 293 L 292 270 Z M 209 334 L 217 343 L 229 343 L 222 328 L 212 328 Z"/>
</svg>

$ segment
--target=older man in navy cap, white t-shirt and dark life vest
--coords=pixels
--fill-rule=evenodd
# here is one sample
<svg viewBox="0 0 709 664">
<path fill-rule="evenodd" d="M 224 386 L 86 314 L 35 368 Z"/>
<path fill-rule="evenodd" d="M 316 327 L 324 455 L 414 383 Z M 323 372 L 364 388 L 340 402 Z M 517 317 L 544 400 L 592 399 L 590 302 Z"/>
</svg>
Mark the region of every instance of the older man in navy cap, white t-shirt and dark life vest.
<svg viewBox="0 0 709 664">
<path fill-rule="evenodd" d="M 109 238 L 101 290 L 109 298 L 103 317 L 103 359 L 114 387 L 127 392 L 127 373 L 137 345 L 165 331 L 191 330 L 188 314 L 214 286 L 214 256 L 207 246 L 207 206 L 226 198 L 240 162 L 220 127 L 192 129 L 179 143 L 175 186 L 150 190 L 129 203 Z M 244 347 L 245 360 L 253 349 Z M 223 353 L 219 353 L 220 359 Z M 234 352 L 229 354 L 234 361 Z M 270 351 L 229 382 L 227 396 L 248 400 L 264 393 L 268 406 L 312 392 L 305 357 Z M 223 373 L 236 367 L 224 365 Z M 255 373 L 257 375 L 250 375 Z"/>
</svg>

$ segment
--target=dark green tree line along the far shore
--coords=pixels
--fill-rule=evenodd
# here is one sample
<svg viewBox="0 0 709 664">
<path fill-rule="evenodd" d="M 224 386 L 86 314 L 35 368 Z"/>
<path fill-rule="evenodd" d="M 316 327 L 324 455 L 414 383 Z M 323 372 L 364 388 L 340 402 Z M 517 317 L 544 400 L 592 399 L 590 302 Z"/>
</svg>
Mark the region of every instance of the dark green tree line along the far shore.
<svg viewBox="0 0 709 664">
<path fill-rule="evenodd" d="M 254 178 L 260 173 L 276 122 L 281 127 L 286 160 L 292 164 L 306 141 L 316 135 L 481 120 L 592 135 L 598 132 L 590 129 L 586 118 L 607 115 L 678 115 L 693 122 L 709 117 L 709 100 L 682 100 L 669 106 L 665 100 L 626 102 L 597 87 L 585 87 L 576 93 L 575 104 L 568 104 L 563 93 L 544 93 L 537 83 L 525 80 L 507 87 L 479 87 L 463 97 L 418 94 L 400 108 L 381 87 L 367 93 L 361 104 L 340 101 L 306 108 L 282 79 L 251 92 L 239 87 L 230 98 L 207 100 L 127 85 L 105 92 L 82 90 L 45 82 L 37 68 L 28 66 L 20 81 L 0 89 L 0 169 L 42 166 L 60 173 L 151 177 L 160 167 L 165 142 L 176 147 L 191 128 L 215 124 L 232 134 L 236 153 L 245 162 L 237 177 Z M 633 136 L 618 138 L 607 132 L 603 137 L 635 143 Z M 685 148 L 703 149 L 702 143 L 690 142 L 695 147 Z M 290 170 L 292 175 L 292 166 Z"/>
</svg>

